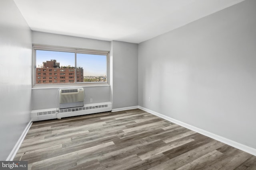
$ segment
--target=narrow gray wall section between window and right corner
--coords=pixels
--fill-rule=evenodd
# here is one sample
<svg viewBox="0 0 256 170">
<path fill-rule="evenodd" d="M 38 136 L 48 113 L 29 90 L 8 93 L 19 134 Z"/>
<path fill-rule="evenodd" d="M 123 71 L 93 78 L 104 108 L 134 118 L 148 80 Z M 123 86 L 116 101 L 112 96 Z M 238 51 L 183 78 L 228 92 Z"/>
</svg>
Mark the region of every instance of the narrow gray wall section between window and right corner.
<svg viewBox="0 0 256 170">
<path fill-rule="evenodd" d="M 112 41 L 110 64 L 113 109 L 138 106 L 138 44 Z"/>
</svg>

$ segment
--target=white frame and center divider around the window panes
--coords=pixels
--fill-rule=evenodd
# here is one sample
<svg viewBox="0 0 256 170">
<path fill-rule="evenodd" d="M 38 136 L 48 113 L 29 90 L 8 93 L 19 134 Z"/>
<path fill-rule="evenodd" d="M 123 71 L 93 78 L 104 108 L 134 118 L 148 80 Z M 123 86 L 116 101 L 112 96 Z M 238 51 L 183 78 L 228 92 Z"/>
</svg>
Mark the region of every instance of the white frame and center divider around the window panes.
<svg viewBox="0 0 256 170">
<path fill-rule="evenodd" d="M 80 49 L 80 48 L 72 48 L 72 47 L 60 47 L 60 46 L 52 46 L 52 45 L 39 45 L 39 44 L 33 44 L 32 48 L 33 48 L 33 52 L 32 52 L 32 88 L 109 85 L 109 53 L 110 53 L 110 51 L 101 51 L 101 50 L 92 50 L 92 49 Z M 75 53 L 74 75 L 76 75 L 76 53 L 80 53 L 80 54 L 94 54 L 94 55 L 106 55 L 106 76 L 107 76 L 107 81 L 106 82 L 76 82 L 76 78 L 75 78 L 75 82 L 74 83 L 36 84 L 36 76 L 42 76 L 42 75 L 36 75 L 36 50 L 60 51 L 60 52 Z M 54 70 L 53 70 L 53 72 L 54 72 Z M 53 78 L 53 80 L 54 80 L 54 78 Z"/>
</svg>

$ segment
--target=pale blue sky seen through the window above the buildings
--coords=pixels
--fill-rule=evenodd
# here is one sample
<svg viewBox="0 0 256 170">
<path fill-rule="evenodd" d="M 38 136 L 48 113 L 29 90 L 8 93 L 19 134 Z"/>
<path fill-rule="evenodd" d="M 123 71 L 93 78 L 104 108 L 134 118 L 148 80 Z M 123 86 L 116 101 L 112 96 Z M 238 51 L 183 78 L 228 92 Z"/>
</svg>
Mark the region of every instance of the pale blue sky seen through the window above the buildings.
<svg viewBox="0 0 256 170">
<path fill-rule="evenodd" d="M 43 62 L 56 60 L 60 66 L 75 66 L 75 53 L 36 50 L 36 67 Z M 105 76 L 106 55 L 76 54 L 77 67 L 84 69 L 84 76 Z"/>
</svg>

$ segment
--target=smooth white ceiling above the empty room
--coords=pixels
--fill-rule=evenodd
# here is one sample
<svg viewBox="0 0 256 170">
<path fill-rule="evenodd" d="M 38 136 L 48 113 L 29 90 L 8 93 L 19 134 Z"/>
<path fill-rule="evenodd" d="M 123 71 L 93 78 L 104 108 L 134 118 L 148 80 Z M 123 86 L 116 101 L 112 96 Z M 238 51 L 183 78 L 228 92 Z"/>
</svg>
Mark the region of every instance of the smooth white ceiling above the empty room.
<svg viewBox="0 0 256 170">
<path fill-rule="evenodd" d="M 243 0 L 14 0 L 34 31 L 140 43 Z"/>
</svg>

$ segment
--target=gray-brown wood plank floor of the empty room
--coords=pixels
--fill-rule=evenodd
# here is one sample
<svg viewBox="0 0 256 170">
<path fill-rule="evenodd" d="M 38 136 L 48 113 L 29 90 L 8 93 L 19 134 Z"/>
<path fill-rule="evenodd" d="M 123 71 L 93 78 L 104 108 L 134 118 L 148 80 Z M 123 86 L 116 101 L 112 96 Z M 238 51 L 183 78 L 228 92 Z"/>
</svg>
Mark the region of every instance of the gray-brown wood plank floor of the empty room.
<svg viewBox="0 0 256 170">
<path fill-rule="evenodd" d="M 34 122 L 20 158 L 32 170 L 256 170 L 256 156 L 140 109 Z"/>
</svg>

